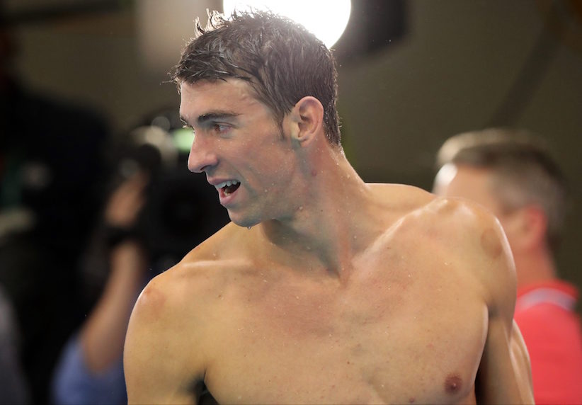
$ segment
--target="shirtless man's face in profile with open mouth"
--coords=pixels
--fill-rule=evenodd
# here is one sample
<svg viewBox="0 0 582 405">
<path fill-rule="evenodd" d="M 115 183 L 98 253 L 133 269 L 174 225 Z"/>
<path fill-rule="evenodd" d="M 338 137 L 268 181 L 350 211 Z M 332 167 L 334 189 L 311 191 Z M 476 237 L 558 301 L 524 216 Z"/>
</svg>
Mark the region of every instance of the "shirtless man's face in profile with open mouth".
<svg viewBox="0 0 582 405">
<path fill-rule="evenodd" d="M 245 81 L 181 85 L 180 114 L 195 132 L 188 169 L 205 172 L 232 221 L 251 227 L 285 216 L 295 153 Z"/>
</svg>

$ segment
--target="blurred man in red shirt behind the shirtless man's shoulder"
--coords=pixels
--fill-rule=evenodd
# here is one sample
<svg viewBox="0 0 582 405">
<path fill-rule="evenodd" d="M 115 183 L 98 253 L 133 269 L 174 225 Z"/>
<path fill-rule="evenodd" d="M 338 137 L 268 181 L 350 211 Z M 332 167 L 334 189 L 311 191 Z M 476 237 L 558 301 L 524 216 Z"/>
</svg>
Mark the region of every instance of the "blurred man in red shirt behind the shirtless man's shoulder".
<svg viewBox="0 0 582 405">
<path fill-rule="evenodd" d="M 433 191 L 484 205 L 506 233 L 518 278 L 515 321 L 530 353 L 537 404 L 582 404 L 578 291 L 559 279 L 566 180 L 541 139 L 488 129 L 447 139 Z"/>
</svg>

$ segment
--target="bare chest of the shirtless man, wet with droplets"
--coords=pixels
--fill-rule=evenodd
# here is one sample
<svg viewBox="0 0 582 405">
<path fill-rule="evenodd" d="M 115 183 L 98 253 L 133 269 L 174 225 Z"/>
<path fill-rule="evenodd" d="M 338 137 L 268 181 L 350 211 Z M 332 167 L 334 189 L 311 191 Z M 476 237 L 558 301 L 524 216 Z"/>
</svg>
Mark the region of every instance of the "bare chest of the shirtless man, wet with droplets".
<svg viewBox="0 0 582 405">
<path fill-rule="evenodd" d="M 264 273 L 251 292 L 226 293 L 210 391 L 229 403 L 474 402 L 486 307 L 438 270 L 364 269 L 344 288 Z"/>
</svg>

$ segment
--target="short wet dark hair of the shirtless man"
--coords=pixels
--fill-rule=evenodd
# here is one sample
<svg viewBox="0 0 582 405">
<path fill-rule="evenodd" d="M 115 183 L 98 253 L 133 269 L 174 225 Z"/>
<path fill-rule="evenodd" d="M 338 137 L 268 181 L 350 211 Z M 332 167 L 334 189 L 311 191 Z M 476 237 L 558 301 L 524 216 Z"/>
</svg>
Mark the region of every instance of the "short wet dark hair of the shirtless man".
<svg viewBox="0 0 582 405">
<path fill-rule="evenodd" d="M 207 28 L 196 23 L 195 38 L 171 71 L 176 84 L 241 79 L 273 112 L 279 124 L 305 96 L 324 106 L 324 131 L 341 146 L 333 55 L 302 25 L 266 11 L 209 13 Z"/>
</svg>

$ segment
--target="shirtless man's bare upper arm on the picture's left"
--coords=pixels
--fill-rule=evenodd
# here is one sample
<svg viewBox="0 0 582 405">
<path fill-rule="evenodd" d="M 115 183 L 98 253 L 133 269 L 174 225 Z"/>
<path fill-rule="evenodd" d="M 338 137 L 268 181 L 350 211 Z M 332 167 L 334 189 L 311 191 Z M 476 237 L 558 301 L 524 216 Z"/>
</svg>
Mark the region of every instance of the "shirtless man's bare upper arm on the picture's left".
<svg viewBox="0 0 582 405">
<path fill-rule="evenodd" d="M 145 287 L 127 329 L 123 363 L 130 404 L 195 404 L 198 398 L 197 336 L 186 327 L 180 294 L 166 273 Z"/>
</svg>

